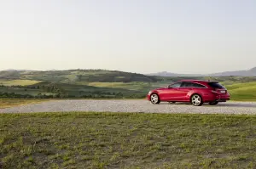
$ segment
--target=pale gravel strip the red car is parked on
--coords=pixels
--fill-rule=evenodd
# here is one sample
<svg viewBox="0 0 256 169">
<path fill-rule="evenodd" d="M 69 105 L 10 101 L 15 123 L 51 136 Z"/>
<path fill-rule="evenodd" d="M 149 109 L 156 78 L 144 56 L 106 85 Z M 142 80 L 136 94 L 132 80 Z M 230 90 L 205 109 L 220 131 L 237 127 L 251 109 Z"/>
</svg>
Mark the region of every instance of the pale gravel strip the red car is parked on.
<svg viewBox="0 0 256 169">
<path fill-rule="evenodd" d="M 144 113 L 224 113 L 256 114 L 256 102 L 226 102 L 217 105 L 203 104 L 200 107 L 191 104 L 151 104 L 147 100 L 54 100 L 39 104 L 26 104 L 0 109 L 0 113 L 30 112 L 144 112 Z"/>
</svg>

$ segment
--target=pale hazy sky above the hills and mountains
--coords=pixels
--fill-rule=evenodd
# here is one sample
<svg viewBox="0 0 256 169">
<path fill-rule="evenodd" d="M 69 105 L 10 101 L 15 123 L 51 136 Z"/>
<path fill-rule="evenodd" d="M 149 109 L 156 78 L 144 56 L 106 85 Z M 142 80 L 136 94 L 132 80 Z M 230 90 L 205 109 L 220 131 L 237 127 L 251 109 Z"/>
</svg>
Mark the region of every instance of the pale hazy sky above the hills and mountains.
<svg viewBox="0 0 256 169">
<path fill-rule="evenodd" d="M 2 0 L 0 70 L 256 66 L 255 0 Z"/>
</svg>

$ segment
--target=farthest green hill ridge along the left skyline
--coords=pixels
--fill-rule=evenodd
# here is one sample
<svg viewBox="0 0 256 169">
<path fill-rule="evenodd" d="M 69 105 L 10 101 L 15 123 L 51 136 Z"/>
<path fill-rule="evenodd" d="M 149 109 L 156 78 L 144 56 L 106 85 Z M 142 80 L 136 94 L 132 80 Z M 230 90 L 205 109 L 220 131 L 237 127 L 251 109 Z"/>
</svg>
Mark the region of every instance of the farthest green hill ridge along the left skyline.
<svg viewBox="0 0 256 169">
<path fill-rule="evenodd" d="M 116 70 L 1 71 L 1 79 L 46 82 L 157 82 L 154 76 Z"/>
</svg>

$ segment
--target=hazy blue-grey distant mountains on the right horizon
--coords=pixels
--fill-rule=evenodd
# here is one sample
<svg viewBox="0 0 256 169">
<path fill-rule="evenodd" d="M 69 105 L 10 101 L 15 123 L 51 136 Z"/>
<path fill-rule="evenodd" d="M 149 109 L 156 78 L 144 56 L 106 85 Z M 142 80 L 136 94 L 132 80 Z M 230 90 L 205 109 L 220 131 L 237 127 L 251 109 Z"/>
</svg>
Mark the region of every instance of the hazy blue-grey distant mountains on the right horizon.
<svg viewBox="0 0 256 169">
<path fill-rule="evenodd" d="M 167 71 L 159 73 L 151 73 L 148 76 L 256 76 L 256 67 L 250 70 L 236 70 L 236 71 L 224 71 L 212 74 L 178 74 Z"/>
</svg>

